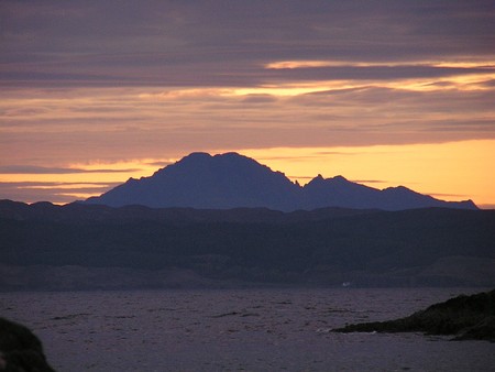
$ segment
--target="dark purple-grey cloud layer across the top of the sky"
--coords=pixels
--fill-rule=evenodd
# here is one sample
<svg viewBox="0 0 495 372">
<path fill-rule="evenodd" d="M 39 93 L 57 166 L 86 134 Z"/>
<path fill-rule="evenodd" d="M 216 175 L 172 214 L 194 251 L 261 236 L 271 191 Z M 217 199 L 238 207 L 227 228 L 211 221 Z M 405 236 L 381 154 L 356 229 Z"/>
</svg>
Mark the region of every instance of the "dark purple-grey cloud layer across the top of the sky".
<svg viewBox="0 0 495 372">
<path fill-rule="evenodd" d="M 2 80 L 235 85 L 283 78 L 274 61 L 491 56 L 493 1 L 12 1 L 0 4 Z M 333 68 L 292 78 L 439 76 Z M 282 74 L 282 75 L 280 75 Z"/>
</svg>

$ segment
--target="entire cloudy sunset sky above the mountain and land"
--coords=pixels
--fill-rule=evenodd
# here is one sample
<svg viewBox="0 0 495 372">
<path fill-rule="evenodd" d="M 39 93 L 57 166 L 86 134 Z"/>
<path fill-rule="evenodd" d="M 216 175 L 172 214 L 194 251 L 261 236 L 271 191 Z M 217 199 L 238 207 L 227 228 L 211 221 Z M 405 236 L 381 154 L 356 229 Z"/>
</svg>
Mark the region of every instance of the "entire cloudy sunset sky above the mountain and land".
<svg viewBox="0 0 495 372">
<path fill-rule="evenodd" d="M 0 199 L 191 152 L 495 208 L 495 1 L 0 1 Z"/>
</svg>

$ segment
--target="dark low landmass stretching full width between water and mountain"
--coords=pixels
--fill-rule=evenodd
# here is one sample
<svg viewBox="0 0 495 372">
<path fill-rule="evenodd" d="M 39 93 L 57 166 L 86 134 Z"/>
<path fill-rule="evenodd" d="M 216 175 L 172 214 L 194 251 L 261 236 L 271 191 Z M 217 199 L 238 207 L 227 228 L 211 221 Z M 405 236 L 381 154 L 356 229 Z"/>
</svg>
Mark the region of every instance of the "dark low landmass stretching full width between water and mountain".
<svg viewBox="0 0 495 372">
<path fill-rule="evenodd" d="M 495 286 L 495 210 L 0 201 L 0 291 Z"/>
</svg>

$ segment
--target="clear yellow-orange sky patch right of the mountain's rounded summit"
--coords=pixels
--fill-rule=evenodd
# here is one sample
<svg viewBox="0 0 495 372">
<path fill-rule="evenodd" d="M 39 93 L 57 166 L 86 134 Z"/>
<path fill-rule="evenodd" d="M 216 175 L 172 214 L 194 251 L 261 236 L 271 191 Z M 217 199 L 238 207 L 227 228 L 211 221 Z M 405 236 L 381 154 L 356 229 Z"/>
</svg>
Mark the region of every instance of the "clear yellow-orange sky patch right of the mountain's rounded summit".
<svg viewBox="0 0 495 372">
<path fill-rule="evenodd" d="M 380 189 L 403 185 L 444 200 L 495 205 L 495 140 L 240 152 L 301 185 L 318 174 L 342 175 Z"/>
</svg>

